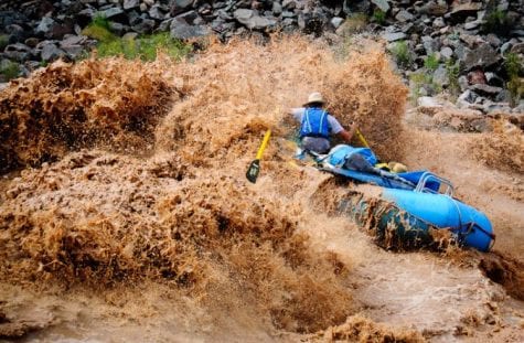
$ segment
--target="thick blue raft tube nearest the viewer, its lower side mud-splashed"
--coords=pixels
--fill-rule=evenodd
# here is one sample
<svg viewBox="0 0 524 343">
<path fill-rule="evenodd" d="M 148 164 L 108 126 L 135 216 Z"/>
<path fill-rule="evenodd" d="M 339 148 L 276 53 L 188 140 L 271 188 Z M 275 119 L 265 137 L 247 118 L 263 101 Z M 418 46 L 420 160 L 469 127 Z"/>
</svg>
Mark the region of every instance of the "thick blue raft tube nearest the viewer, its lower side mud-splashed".
<svg viewBox="0 0 524 343">
<path fill-rule="evenodd" d="M 443 237 L 445 242 L 451 238 L 459 246 L 489 251 L 495 238 L 483 213 L 443 194 L 383 189 L 379 197 L 366 199 L 353 192 L 338 210 L 385 248 L 438 248 Z"/>
</svg>

